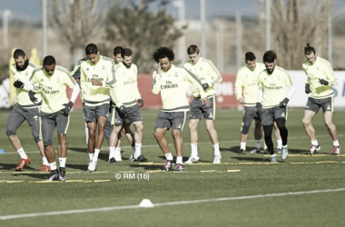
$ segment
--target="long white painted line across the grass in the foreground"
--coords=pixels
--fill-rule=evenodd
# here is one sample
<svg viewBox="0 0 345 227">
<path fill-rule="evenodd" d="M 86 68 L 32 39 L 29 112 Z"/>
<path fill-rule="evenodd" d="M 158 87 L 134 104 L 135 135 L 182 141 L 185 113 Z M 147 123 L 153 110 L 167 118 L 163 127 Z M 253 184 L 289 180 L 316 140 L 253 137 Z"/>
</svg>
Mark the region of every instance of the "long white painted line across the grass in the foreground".
<svg viewBox="0 0 345 227">
<path fill-rule="evenodd" d="M 326 193 L 326 192 L 344 192 L 344 191 L 345 191 L 345 188 L 338 188 L 338 189 L 315 190 L 315 191 L 305 191 L 305 192 L 284 192 L 284 193 L 272 193 L 272 194 L 257 194 L 257 195 L 248 195 L 248 196 L 239 196 L 239 197 L 225 197 L 225 198 L 218 198 L 218 199 L 208 199 L 208 200 L 162 202 L 162 203 L 155 203 L 155 204 L 153 204 L 153 206 L 157 207 L 157 206 L 172 206 L 172 205 L 192 204 L 192 203 L 201 203 L 201 202 L 223 202 L 223 201 L 236 201 L 236 200 L 250 200 L 250 199 L 260 199 L 260 198 L 269 198 L 269 197 L 280 197 L 280 196 L 286 196 L 286 195 L 300 195 L 300 194 Z M 69 211 L 62 211 L 62 212 L 23 213 L 23 214 L 0 216 L 0 220 L 30 218 L 30 217 L 40 217 L 40 216 L 54 216 L 54 215 L 71 214 L 71 213 L 84 213 L 84 212 L 107 212 L 107 211 L 113 211 L 113 210 L 131 210 L 131 209 L 138 209 L 138 208 L 143 208 L 143 207 L 141 207 L 139 205 L 128 205 L 128 206 L 100 207 L 100 208 L 83 209 L 83 210 L 69 210 Z"/>
</svg>

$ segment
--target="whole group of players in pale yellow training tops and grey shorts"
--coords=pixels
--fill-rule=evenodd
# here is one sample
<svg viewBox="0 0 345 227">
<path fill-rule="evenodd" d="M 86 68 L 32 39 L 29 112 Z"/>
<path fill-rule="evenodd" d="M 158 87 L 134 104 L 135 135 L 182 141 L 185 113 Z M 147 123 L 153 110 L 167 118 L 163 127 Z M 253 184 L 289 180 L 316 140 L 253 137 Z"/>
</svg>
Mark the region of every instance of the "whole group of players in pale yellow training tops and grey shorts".
<svg viewBox="0 0 345 227">
<path fill-rule="evenodd" d="M 25 164 L 31 162 L 16 136 L 17 129 L 27 121 L 43 158 L 40 172 L 50 173 L 48 181 L 66 180 L 66 133 L 69 113 L 79 94 L 83 101 L 86 143 L 90 159 L 87 172 L 96 171 L 104 137 L 109 143 L 109 162 L 122 161 L 122 133 L 133 148 L 130 160 L 148 161 L 141 152 L 143 117 L 140 108 L 144 103 L 138 90 L 138 69 L 133 64 L 133 51 L 116 46 L 112 59 L 101 55 L 95 44 L 88 44 L 85 54 L 86 57 L 80 60 L 70 73 L 57 65 L 52 55 L 45 56 L 43 65 L 38 67 L 29 62 L 23 50 L 15 50 L 15 64 L 11 65 L 11 70 L 15 77 L 17 96 L 6 126 L 6 134 L 20 155 L 15 171 L 23 171 Z M 190 61 L 179 67 L 173 64 L 174 53 L 168 47 L 161 46 L 153 53 L 157 68 L 153 72 L 151 89 L 153 94 L 161 94 L 163 103 L 162 111 L 154 125 L 153 135 L 166 157 L 164 171 L 184 171 L 182 129 L 188 115 L 192 153 L 185 163 L 191 164 L 200 160 L 197 126 L 202 115 L 214 149 L 213 163 L 222 161 L 218 135 L 214 128 L 215 85 L 222 82 L 222 75 L 210 60 L 200 56 L 198 46 L 190 45 L 187 54 Z M 308 76 L 305 92 L 311 94 L 302 119 L 311 138 L 311 149 L 308 153 L 320 151 L 311 119 L 322 107 L 324 121 L 333 140 L 332 153 L 339 154 L 340 143 L 336 127 L 331 121 L 334 102 L 331 85 L 336 84 L 337 79 L 330 63 L 317 56 L 315 49 L 309 44 L 305 47 L 304 54 L 307 61 L 302 65 Z M 235 83 L 236 98 L 244 104 L 239 154 L 245 153 L 251 121 L 254 118 L 255 149 L 251 153 L 260 153 L 262 125 L 265 151 L 271 154 L 271 163 L 277 162 L 271 139 L 274 127 L 278 142 L 277 153 L 281 153 L 281 159 L 285 160 L 288 157 L 287 104 L 295 91 L 291 76 L 276 64 L 277 55 L 273 51 L 267 51 L 263 55 L 263 64 L 256 63 L 255 55 L 248 52 L 245 54 L 245 63 L 239 69 Z M 191 104 L 186 96 L 189 84 L 192 85 L 193 94 Z M 73 89 L 70 98 L 67 97 L 66 86 Z M 132 123 L 134 133 L 130 127 Z M 55 128 L 58 137 L 59 168 L 52 146 Z M 165 138 L 166 131 L 170 129 L 176 152 L 175 159 Z"/>
</svg>

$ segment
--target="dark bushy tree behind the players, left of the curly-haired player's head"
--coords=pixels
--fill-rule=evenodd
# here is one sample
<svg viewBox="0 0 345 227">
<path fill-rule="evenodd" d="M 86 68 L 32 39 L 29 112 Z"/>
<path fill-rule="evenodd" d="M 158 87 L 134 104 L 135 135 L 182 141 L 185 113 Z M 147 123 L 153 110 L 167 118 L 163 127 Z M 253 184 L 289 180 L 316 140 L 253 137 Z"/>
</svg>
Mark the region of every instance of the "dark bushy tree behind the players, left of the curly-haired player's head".
<svg viewBox="0 0 345 227">
<path fill-rule="evenodd" d="M 106 34 L 113 45 L 123 45 L 133 50 L 133 63 L 141 73 L 152 73 L 153 51 L 165 45 L 173 48 L 175 41 L 182 35 L 181 29 L 174 25 L 172 15 L 167 15 L 168 1 L 156 3 L 157 10 L 149 9 L 157 0 L 129 0 L 114 4 L 107 15 Z M 113 46 L 114 47 L 114 46 Z"/>
</svg>

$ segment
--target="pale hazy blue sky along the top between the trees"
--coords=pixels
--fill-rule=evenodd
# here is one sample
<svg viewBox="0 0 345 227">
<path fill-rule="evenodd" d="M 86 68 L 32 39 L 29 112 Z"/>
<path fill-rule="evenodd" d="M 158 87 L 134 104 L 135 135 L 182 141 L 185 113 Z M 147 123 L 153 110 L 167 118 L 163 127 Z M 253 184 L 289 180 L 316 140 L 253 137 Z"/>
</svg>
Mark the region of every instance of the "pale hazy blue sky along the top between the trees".
<svg viewBox="0 0 345 227">
<path fill-rule="evenodd" d="M 104 0 L 104 3 L 113 3 L 116 0 Z M 178 16 L 178 8 L 170 0 L 168 11 L 173 16 Z M 40 20 L 42 18 L 42 0 L 0 0 L 0 15 L 5 9 L 11 10 L 10 19 L 15 17 L 25 20 Z M 49 2 L 49 0 L 47 1 Z M 102 2 L 102 1 L 99 1 Z M 200 0 L 184 0 L 186 19 L 200 18 Z M 256 15 L 257 0 L 205 0 L 207 17 L 235 15 Z M 154 5 L 152 6 L 154 7 Z"/>
</svg>

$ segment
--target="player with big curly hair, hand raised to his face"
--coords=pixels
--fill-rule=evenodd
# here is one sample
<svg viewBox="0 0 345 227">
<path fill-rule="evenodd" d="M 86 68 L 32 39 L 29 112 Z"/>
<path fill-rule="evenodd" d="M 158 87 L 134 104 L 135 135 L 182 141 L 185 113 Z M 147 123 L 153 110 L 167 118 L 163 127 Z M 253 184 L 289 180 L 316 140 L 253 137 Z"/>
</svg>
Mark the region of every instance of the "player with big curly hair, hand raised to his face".
<svg viewBox="0 0 345 227">
<path fill-rule="evenodd" d="M 203 91 L 202 83 L 196 75 L 185 68 L 173 65 L 173 50 L 161 46 L 154 51 L 153 59 L 157 63 L 157 70 L 153 72 L 151 90 L 153 94 L 161 93 L 163 103 L 162 112 L 158 114 L 154 125 L 153 135 L 166 157 L 163 170 L 169 171 L 173 166 L 173 154 L 169 150 L 164 134 L 172 128 L 177 156 L 175 171 L 184 171 L 182 129 L 189 112 L 186 82 L 192 83 L 199 90 L 202 103 L 206 107 L 210 106 L 210 100 Z"/>
</svg>

